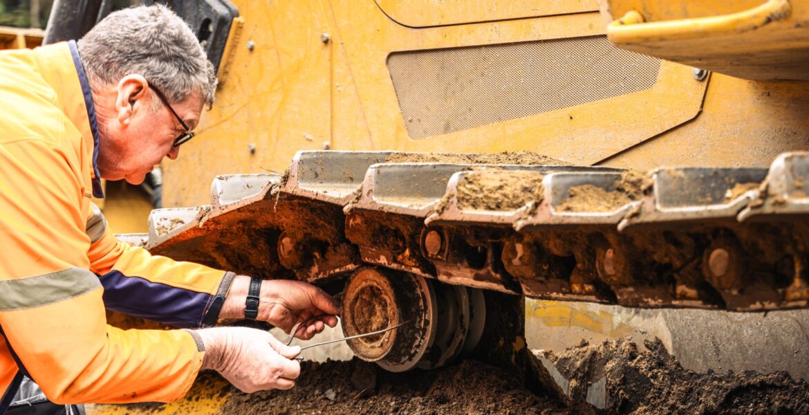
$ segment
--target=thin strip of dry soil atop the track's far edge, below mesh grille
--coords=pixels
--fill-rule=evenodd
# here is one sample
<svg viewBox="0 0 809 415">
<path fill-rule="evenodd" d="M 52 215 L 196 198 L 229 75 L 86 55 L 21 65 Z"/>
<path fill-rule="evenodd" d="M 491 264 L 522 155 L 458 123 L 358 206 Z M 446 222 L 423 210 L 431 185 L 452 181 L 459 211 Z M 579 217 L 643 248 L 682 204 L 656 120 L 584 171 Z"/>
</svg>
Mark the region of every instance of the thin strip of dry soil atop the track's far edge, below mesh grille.
<svg viewBox="0 0 809 415">
<path fill-rule="evenodd" d="M 536 164 L 546 166 L 569 166 L 561 160 L 532 151 L 505 151 L 503 153 L 453 154 L 453 153 L 391 153 L 385 163 L 455 163 L 455 164 Z"/>
</svg>

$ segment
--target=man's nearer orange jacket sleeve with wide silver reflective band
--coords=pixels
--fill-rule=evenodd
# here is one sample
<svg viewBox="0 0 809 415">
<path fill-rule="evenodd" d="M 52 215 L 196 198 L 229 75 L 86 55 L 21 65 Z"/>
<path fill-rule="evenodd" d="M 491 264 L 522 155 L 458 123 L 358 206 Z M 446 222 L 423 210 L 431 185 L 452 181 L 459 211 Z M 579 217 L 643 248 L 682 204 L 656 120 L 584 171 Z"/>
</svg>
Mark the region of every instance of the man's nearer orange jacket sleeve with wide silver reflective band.
<svg viewBox="0 0 809 415">
<path fill-rule="evenodd" d="M 21 369 L 57 403 L 171 401 L 200 370 L 184 330 L 106 324 L 85 231 L 89 197 L 74 151 L 0 142 L 0 325 Z"/>
</svg>

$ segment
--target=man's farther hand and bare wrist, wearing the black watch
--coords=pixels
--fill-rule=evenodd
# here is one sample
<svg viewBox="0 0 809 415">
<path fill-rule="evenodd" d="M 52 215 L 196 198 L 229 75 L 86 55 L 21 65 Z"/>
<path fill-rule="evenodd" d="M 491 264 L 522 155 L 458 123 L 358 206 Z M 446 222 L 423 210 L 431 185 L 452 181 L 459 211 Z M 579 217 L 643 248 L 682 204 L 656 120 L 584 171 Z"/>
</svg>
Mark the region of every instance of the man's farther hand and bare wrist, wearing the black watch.
<svg viewBox="0 0 809 415">
<path fill-rule="evenodd" d="M 247 299 L 250 277 L 235 277 L 225 303 L 221 318 L 244 318 L 244 301 Z M 322 332 L 326 325 L 337 325 L 336 315 L 340 313 L 337 302 L 324 290 L 306 282 L 290 280 L 265 280 L 261 282 L 258 317 L 284 332 L 290 332 L 295 324 L 307 320 L 312 315 L 324 315 L 309 321 L 295 332 L 295 337 L 311 339 Z"/>
</svg>

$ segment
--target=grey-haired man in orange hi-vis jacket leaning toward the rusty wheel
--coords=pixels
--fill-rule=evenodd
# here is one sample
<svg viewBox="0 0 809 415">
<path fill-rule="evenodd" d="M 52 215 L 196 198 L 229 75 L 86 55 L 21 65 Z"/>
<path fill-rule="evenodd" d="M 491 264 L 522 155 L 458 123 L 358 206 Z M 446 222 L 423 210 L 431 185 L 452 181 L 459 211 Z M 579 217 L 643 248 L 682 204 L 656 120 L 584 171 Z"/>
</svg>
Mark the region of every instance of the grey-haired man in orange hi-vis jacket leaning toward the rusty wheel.
<svg viewBox="0 0 809 415">
<path fill-rule="evenodd" d="M 193 32 L 163 6 L 112 13 L 78 45 L 0 53 L 6 398 L 20 373 L 61 404 L 177 400 L 206 368 L 244 392 L 287 389 L 299 375 L 299 348 L 268 332 L 124 331 L 106 324 L 105 306 L 183 328 L 255 314 L 289 331 L 325 315 L 302 338 L 337 324 L 336 304 L 314 286 L 150 256 L 109 235 L 91 204 L 103 197 L 100 178 L 138 184 L 163 157 L 176 159 L 215 88 Z"/>
</svg>

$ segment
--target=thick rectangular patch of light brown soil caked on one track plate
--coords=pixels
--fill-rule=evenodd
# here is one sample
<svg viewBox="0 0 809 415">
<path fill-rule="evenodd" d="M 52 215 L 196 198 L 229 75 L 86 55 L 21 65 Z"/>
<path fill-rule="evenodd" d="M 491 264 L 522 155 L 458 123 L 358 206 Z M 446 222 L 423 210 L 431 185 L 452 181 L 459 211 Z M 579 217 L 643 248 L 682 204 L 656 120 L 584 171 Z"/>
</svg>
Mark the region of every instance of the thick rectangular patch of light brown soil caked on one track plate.
<svg viewBox="0 0 809 415">
<path fill-rule="evenodd" d="M 536 172 L 472 172 L 458 183 L 462 210 L 517 210 L 543 197 L 542 175 Z"/>
</svg>

